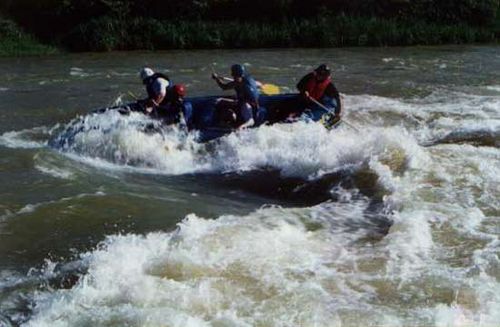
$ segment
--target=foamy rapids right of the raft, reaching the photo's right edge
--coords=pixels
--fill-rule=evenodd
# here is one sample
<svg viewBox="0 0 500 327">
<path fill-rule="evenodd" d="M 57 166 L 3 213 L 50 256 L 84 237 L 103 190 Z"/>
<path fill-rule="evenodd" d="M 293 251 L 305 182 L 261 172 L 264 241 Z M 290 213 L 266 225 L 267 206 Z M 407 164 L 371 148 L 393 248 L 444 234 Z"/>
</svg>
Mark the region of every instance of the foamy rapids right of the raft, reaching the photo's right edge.
<svg viewBox="0 0 500 327">
<path fill-rule="evenodd" d="M 345 97 L 348 117 L 367 125 L 403 125 L 421 143 L 451 132 L 500 133 L 500 98 L 438 90 L 424 98 Z M 395 115 L 396 114 L 396 115 Z"/>
</svg>

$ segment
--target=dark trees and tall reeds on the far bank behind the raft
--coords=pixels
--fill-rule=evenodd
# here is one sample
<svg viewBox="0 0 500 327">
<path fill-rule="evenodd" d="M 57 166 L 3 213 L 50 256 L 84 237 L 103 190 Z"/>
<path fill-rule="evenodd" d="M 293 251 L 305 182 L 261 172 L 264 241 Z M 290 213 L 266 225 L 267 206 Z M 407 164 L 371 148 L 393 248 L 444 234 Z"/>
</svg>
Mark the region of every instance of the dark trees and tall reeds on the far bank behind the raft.
<svg viewBox="0 0 500 327">
<path fill-rule="evenodd" d="M 41 40 L 73 51 L 340 47 L 495 42 L 500 34 L 499 3 L 7 0 L 0 12 Z"/>
</svg>

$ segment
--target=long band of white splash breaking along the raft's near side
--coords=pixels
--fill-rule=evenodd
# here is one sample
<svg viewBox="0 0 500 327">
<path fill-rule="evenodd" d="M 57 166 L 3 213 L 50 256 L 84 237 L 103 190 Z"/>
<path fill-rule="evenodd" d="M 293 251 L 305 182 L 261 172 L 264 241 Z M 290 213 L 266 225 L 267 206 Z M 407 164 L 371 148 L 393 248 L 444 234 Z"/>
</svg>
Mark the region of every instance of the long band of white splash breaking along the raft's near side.
<svg viewBox="0 0 500 327">
<path fill-rule="evenodd" d="M 377 156 L 399 151 L 407 164 L 420 160 L 418 145 L 399 128 L 347 127 L 327 131 L 320 124 L 262 126 L 222 137 L 210 144 L 195 142 L 176 128 L 148 134 L 153 123 L 140 114 L 116 112 L 85 117 L 82 130 L 63 151 L 83 160 L 102 160 L 116 167 L 152 169 L 157 173 L 241 172 L 276 169 L 283 176 L 317 178 L 325 173 L 368 165 Z"/>
</svg>

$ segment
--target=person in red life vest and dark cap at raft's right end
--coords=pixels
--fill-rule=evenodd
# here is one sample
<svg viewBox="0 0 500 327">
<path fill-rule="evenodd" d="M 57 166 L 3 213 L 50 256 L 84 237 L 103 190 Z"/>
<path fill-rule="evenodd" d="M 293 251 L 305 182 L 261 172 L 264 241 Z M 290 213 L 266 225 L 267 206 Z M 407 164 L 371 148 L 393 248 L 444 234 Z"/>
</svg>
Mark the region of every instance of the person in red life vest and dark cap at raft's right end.
<svg viewBox="0 0 500 327">
<path fill-rule="evenodd" d="M 313 99 L 324 106 L 331 108 L 335 113 L 334 120 L 340 119 L 342 112 L 342 103 L 340 94 L 335 84 L 332 82 L 331 70 L 326 64 L 321 64 L 311 73 L 302 77 L 297 84 L 300 92 L 298 106 L 295 111 L 290 113 L 289 117 L 300 116 L 305 109 L 318 107 Z"/>
</svg>

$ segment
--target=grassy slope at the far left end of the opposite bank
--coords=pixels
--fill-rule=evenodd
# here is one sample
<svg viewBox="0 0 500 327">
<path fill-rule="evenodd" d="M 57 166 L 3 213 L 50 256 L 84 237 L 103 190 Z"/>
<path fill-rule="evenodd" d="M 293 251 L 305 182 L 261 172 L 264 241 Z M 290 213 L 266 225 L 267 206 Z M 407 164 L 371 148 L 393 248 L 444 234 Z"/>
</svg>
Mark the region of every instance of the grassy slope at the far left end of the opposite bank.
<svg viewBox="0 0 500 327">
<path fill-rule="evenodd" d="M 59 52 L 23 32 L 13 21 L 0 17 L 0 56 L 47 55 Z"/>
</svg>

